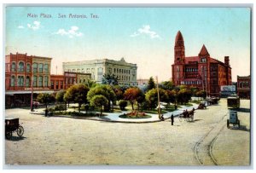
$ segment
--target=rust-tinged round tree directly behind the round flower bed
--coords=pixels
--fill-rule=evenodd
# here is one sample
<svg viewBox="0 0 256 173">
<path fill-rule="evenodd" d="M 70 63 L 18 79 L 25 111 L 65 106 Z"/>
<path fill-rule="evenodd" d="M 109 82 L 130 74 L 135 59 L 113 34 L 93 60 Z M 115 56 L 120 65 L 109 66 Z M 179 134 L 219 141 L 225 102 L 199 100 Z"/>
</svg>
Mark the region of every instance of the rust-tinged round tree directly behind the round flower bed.
<svg viewBox="0 0 256 173">
<path fill-rule="evenodd" d="M 130 101 L 132 110 L 134 110 L 134 103 L 136 101 L 141 101 L 143 97 L 143 91 L 139 88 L 129 88 L 125 90 L 124 98 L 126 101 Z"/>
</svg>

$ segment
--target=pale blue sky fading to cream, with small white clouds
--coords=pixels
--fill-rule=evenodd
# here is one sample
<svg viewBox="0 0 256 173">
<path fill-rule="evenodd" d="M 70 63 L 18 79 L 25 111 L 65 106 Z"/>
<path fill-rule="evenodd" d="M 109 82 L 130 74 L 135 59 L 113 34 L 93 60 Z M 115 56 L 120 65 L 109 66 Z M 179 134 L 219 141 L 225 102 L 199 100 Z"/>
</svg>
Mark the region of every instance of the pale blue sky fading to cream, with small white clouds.
<svg viewBox="0 0 256 173">
<path fill-rule="evenodd" d="M 230 56 L 236 82 L 250 74 L 250 15 L 251 9 L 234 7 L 7 7 L 5 53 L 51 57 L 53 74 L 62 73 L 64 61 L 124 57 L 137 64 L 137 78 L 165 81 L 180 31 L 186 56 L 198 55 L 203 44 L 218 61 Z"/>
</svg>

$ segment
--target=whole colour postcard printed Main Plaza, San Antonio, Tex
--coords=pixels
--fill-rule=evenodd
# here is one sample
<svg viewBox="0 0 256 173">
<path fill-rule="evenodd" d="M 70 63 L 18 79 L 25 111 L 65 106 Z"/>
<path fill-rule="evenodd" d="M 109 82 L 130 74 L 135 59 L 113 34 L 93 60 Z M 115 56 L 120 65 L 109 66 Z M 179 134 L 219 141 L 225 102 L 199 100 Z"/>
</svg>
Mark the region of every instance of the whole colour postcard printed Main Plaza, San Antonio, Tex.
<svg viewBox="0 0 256 173">
<path fill-rule="evenodd" d="M 251 7 L 4 14 L 4 164 L 252 164 Z"/>
</svg>

